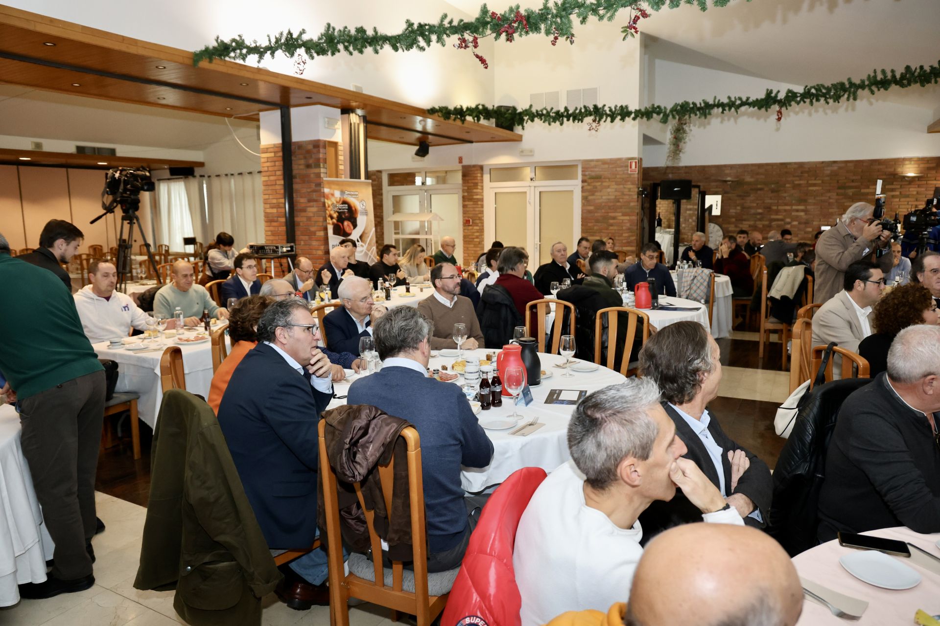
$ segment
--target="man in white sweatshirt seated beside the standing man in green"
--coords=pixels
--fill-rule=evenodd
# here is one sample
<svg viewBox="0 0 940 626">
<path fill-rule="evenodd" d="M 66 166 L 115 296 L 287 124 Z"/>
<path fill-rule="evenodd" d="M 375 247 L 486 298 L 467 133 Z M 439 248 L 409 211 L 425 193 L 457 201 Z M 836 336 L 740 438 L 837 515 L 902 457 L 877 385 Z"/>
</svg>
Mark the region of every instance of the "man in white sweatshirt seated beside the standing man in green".
<svg viewBox="0 0 940 626">
<path fill-rule="evenodd" d="M 92 344 L 127 337 L 131 327 L 147 329 L 147 313 L 140 310 L 127 294 L 115 291 L 118 269 L 108 261 L 88 264 L 86 284 L 75 294 L 75 308 L 82 319 L 82 328 Z"/>
</svg>

